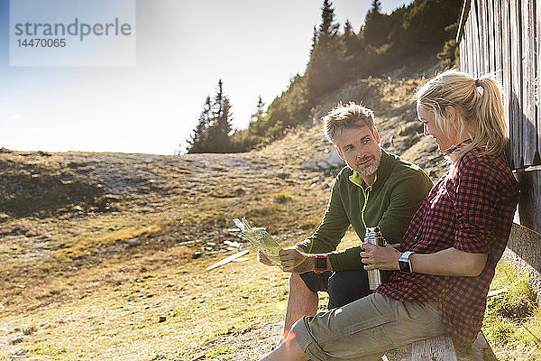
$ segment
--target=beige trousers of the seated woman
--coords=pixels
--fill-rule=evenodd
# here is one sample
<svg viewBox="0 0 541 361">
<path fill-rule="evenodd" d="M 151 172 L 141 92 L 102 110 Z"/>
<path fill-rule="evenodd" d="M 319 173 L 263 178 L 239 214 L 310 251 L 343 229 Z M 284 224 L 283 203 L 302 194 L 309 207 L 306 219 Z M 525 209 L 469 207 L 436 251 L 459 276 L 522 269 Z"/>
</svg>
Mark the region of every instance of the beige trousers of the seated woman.
<svg viewBox="0 0 541 361">
<path fill-rule="evenodd" d="M 379 360 L 386 351 L 445 334 L 437 302 L 396 301 L 379 293 L 304 317 L 291 329 L 311 360 Z"/>
</svg>

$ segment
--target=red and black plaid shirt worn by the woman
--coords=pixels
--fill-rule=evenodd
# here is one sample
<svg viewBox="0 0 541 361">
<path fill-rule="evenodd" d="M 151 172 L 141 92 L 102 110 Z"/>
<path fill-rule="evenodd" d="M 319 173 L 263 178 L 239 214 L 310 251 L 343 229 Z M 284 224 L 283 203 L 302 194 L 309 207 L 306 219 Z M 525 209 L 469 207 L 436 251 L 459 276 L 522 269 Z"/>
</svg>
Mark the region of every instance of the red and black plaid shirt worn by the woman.
<svg viewBox="0 0 541 361">
<path fill-rule="evenodd" d="M 447 171 L 413 217 L 402 251 L 431 254 L 454 247 L 486 253 L 477 277 L 393 272 L 376 292 L 399 301 L 439 301 L 440 315 L 459 347 L 481 329 L 494 268 L 507 245 L 518 183 L 503 157 L 475 148 Z"/>
</svg>

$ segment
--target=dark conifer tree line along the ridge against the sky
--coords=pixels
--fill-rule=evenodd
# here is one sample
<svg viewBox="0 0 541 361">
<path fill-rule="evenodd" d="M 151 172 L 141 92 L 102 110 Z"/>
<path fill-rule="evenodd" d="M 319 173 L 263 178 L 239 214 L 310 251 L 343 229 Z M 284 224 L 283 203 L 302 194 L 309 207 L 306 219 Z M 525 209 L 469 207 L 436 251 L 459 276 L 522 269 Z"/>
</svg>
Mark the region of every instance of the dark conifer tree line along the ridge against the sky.
<svg viewBox="0 0 541 361">
<path fill-rule="evenodd" d="M 355 32 L 348 21 L 335 22 L 329 0 L 321 7 L 321 23 L 314 26 L 304 75 L 290 79 L 287 88 L 264 110 L 261 97 L 246 129 L 232 130 L 229 98 L 222 81 L 214 98 L 206 97 L 203 112 L 188 139 L 188 153 L 245 152 L 280 137 L 302 123 L 320 98 L 355 79 L 399 67 L 404 60 L 437 57 L 445 66 L 458 59 L 454 36 L 462 0 L 414 0 L 391 14 L 373 0 L 364 24 Z"/>
</svg>

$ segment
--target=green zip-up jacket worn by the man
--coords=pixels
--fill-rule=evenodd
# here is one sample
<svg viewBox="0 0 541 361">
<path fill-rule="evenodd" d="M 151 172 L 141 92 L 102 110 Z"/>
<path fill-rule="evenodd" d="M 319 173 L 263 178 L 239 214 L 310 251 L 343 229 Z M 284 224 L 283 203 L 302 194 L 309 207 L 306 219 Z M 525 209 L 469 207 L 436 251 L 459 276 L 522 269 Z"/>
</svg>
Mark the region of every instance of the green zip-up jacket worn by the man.
<svg viewBox="0 0 541 361">
<path fill-rule="evenodd" d="M 335 271 L 360 270 L 361 245 L 335 251 L 347 228 L 352 225 L 364 239 L 366 227 L 379 226 L 388 243 L 399 243 L 432 186 L 417 165 L 381 150 L 376 180 L 370 187 L 351 168 L 340 171 L 321 225 L 298 245 L 311 254 L 331 253 L 329 261 Z"/>
</svg>

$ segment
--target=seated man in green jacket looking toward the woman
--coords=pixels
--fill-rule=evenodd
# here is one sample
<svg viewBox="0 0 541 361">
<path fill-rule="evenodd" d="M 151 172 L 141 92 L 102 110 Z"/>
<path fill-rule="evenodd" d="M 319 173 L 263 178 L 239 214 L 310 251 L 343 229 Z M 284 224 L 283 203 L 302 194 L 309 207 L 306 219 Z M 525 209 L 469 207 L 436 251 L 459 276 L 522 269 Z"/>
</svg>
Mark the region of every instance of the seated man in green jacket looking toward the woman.
<svg viewBox="0 0 541 361">
<path fill-rule="evenodd" d="M 336 177 L 316 232 L 280 253 L 283 270 L 292 273 L 282 338 L 298 319 L 316 314 L 318 291 L 328 292 L 329 310 L 371 293 L 361 246 L 335 251 L 348 227 L 362 240 L 366 227 L 379 226 L 387 242 L 398 243 L 432 188 L 424 171 L 381 149 L 371 109 L 350 103 L 323 120 L 327 139 L 348 166 Z M 260 261 L 271 265 L 262 254 Z"/>
</svg>

